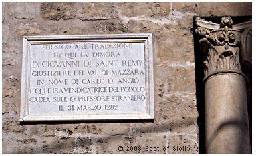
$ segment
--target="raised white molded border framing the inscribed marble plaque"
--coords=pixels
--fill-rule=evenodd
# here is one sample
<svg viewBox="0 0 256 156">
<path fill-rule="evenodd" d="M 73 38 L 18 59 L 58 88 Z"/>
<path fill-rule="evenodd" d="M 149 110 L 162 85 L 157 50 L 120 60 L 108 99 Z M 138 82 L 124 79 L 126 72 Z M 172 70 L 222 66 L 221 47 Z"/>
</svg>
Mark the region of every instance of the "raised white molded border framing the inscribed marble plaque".
<svg viewBox="0 0 256 156">
<path fill-rule="evenodd" d="M 29 71 L 31 45 L 57 43 L 144 43 L 146 77 L 146 112 L 141 113 L 95 113 L 95 114 L 29 114 Z M 104 34 L 104 35 L 39 35 L 23 37 L 23 61 L 21 74 L 20 122 L 33 121 L 98 121 L 98 120 L 144 120 L 154 119 L 154 71 L 152 33 Z"/>
</svg>

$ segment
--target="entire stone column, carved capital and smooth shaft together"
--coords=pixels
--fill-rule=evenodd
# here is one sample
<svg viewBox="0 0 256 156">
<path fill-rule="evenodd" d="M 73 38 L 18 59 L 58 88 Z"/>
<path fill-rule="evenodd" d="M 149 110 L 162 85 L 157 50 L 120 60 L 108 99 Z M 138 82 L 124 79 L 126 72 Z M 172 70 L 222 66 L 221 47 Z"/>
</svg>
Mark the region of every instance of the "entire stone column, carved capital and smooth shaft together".
<svg viewBox="0 0 256 156">
<path fill-rule="evenodd" d="M 206 153 L 251 153 L 247 77 L 241 68 L 241 63 L 251 61 L 248 48 L 241 50 L 249 46 L 244 45 L 248 35 L 243 31 L 251 22 L 233 25 L 231 17 L 223 17 L 220 24 L 195 21 L 199 48 L 205 55 Z"/>
</svg>

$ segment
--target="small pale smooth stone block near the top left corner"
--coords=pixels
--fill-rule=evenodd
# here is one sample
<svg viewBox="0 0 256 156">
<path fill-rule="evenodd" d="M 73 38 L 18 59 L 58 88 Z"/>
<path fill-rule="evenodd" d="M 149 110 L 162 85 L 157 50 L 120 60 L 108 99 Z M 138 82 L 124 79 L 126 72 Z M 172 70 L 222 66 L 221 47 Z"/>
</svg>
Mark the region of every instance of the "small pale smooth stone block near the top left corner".
<svg viewBox="0 0 256 156">
<path fill-rule="evenodd" d="M 34 19 L 35 6 L 35 3 L 11 3 L 10 15 L 17 19 Z"/>
</svg>

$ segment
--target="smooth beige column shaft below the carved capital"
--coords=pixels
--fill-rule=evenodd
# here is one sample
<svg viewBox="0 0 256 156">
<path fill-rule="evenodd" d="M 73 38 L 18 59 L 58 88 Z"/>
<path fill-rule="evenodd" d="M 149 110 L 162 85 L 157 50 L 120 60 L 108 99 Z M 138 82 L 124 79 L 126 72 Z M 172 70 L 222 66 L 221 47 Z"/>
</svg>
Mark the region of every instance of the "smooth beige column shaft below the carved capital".
<svg viewBox="0 0 256 156">
<path fill-rule="evenodd" d="M 207 153 L 251 153 L 246 79 L 219 73 L 205 81 Z"/>
</svg>

